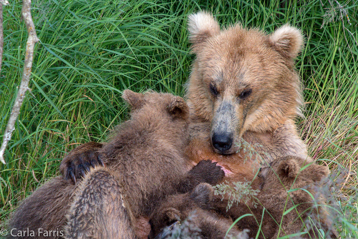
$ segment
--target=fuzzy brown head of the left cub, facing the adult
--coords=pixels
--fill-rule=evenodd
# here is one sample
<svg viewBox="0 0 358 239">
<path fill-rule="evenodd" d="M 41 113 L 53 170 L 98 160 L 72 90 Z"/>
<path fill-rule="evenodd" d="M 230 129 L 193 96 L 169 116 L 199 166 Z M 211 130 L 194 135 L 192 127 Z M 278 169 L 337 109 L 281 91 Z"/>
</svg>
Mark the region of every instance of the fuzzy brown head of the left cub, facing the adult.
<svg viewBox="0 0 358 239">
<path fill-rule="evenodd" d="M 182 97 L 154 91 L 142 94 L 125 90 L 122 98 L 131 109 L 133 127 L 155 131 L 157 135 L 153 136 L 158 138 L 189 137 L 189 107 Z"/>
</svg>

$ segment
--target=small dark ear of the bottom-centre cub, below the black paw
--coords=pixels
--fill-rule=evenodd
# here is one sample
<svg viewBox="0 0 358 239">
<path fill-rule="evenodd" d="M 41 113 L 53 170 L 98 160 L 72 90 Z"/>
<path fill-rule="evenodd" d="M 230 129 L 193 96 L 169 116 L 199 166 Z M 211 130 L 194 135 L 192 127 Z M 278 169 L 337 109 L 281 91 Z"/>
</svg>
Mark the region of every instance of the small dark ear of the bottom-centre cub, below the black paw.
<svg viewBox="0 0 358 239">
<path fill-rule="evenodd" d="M 200 208 L 210 208 L 210 202 L 213 199 L 214 189 L 209 183 L 200 183 L 190 192 L 190 199 L 193 200 Z"/>
</svg>

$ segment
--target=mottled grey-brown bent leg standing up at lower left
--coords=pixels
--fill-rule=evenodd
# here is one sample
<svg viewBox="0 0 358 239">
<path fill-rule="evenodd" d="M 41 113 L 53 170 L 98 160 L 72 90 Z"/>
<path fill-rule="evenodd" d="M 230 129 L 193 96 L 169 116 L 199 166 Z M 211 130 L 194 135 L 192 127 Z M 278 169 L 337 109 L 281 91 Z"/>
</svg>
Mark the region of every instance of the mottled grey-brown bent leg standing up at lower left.
<svg viewBox="0 0 358 239">
<path fill-rule="evenodd" d="M 135 239 L 131 210 L 111 171 L 96 167 L 79 185 L 67 215 L 65 239 Z"/>
</svg>

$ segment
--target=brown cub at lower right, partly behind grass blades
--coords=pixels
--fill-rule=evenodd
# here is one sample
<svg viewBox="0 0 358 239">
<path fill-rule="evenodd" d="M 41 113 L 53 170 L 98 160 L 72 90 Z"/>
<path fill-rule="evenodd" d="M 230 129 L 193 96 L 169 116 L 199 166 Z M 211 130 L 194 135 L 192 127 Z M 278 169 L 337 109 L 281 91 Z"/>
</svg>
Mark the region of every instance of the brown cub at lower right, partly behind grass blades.
<svg viewBox="0 0 358 239">
<path fill-rule="evenodd" d="M 276 221 L 282 219 L 281 228 L 287 235 L 303 230 L 308 231 L 308 234 L 302 235 L 303 238 L 320 238 L 318 235 L 324 231 L 330 238 L 337 238 L 324 198 L 312 198 L 317 190 L 322 190 L 322 179 L 329 173 L 328 167 L 308 163 L 305 158 L 278 158 L 270 166 L 261 168 L 258 174 L 257 180 L 261 181 L 258 196 L 260 204 Z M 313 207 L 314 200 L 316 208 Z M 304 225 L 310 212 L 311 219 Z"/>
</svg>

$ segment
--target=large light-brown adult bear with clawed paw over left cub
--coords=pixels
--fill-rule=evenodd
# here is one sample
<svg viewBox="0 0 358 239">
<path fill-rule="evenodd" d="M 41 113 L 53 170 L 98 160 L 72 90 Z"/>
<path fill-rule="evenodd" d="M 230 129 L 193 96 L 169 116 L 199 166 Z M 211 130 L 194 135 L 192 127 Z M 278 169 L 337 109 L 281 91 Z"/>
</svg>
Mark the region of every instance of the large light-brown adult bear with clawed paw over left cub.
<svg viewBox="0 0 358 239">
<path fill-rule="evenodd" d="M 193 163 L 209 157 L 227 175 L 245 173 L 250 179 L 260 163 L 276 157 L 310 161 L 294 122 L 302 104 L 294 66 L 301 31 L 287 24 L 271 34 L 240 24 L 220 30 L 206 12 L 189 15 L 188 25 L 196 54 L 186 85 L 192 140 L 187 152 Z M 89 142 L 73 149 L 61 162 L 62 175 L 80 179 L 100 164 L 101 147 Z"/>
</svg>

